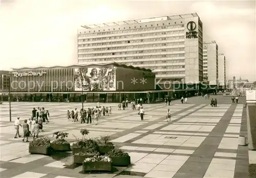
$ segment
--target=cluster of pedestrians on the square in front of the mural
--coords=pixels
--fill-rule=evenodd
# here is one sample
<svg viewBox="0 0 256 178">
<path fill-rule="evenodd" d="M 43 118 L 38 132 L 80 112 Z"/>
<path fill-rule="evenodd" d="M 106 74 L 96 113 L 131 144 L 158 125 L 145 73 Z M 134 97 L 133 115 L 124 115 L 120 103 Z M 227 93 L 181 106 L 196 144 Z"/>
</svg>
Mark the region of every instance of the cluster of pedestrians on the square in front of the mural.
<svg viewBox="0 0 256 178">
<path fill-rule="evenodd" d="M 99 102 L 97 103 L 96 108 L 88 108 L 81 109 L 80 112 L 78 112 L 77 108 L 75 111 L 67 111 L 67 118 L 72 119 L 72 122 L 78 122 L 78 118 L 80 119 L 81 123 L 92 123 L 92 118 L 94 119 L 95 125 L 98 124 L 99 117 L 101 116 L 109 116 L 111 114 L 111 106 L 108 107 L 102 107 L 99 106 Z"/>
</svg>

